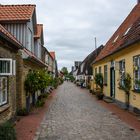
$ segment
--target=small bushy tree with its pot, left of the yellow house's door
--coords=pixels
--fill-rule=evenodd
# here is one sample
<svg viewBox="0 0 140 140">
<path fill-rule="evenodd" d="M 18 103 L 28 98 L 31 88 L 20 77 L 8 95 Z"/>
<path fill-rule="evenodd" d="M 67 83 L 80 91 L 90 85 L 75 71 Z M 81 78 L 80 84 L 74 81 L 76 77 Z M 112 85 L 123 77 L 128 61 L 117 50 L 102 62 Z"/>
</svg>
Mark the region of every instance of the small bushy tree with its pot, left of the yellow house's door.
<svg viewBox="0 0 140 140">
<path fill-rule="evenodd" d="M 101 73 L 98 73 L 95 75 L 94 77 L 94 80 L 95 80 L 95 84 L 97 85 L 97 89 L 99 89 L 99 91 L 96 91 L 96 97 L 99 99 L 99 100 L 102 100 L 103 97 L 104 97 L 104 94 L 103 94 L 103 75 Z"/>
</svg>

